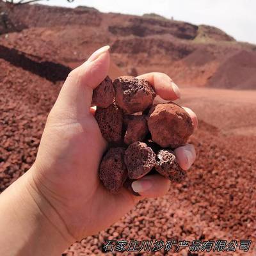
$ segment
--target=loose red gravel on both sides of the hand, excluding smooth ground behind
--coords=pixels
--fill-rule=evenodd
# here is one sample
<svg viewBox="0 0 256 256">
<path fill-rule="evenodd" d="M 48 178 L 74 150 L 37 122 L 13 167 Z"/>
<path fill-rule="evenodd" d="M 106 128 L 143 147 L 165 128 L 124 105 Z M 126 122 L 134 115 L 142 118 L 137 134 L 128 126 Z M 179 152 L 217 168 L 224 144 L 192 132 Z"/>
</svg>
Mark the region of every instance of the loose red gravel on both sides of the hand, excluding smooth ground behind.
<svg viewBox="0 0 256 256">
<path fill-rule="evenodd" d="M 26 172 L 35 160 L 47 113 L 59 90 L 60 84 L 52 84 L 0 60 L 1 191 Z M 188 172 L 188 179 L 173 184 L 163 198 L 141 201 L 118 223 L 97 236 L 73 244 L 63 255 L 100 255 L 106 239 L 252 239 L 251 249 L 244 255 L 253 255 L 256 138 L 224 137 L 216 127 L 201 121 L 191 142 L 198 156 Z M 177 255 L 212 255 L 186 250 Z M 214 252 L 214 255 L 239 255 L 238 252 L 241 251 Z M 118 255 L 107 255 L 113 254 Z M 129 253 L 135 254 L 138 255 Z M 150 253 L 141 252 L 140 255 Z M 164 252 L 154 255 L 164 255 Z"/>
</svg>

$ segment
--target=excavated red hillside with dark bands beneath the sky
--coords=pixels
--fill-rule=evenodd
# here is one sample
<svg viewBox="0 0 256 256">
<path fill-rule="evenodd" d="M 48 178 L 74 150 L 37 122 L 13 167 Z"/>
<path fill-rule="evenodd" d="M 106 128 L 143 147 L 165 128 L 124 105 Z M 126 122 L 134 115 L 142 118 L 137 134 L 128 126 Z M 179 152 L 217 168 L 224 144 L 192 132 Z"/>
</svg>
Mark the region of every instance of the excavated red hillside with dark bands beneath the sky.
<svg viewBox="0 0 256 256">
<path fill-rule="evenodd" d="M 182 86 L 256 88 L 256 46 L 236 42 L 211 26 L 154 14 L 100 13 L 81 6 L 6 7 L 2 2 L 0 8 L 5 10 L 6 27 L 12 32 L 3 30 L 2 20 L 0 45 L 8 49 L 1 52 L 15 49 L 38 62 L 74 68 L 90 52 L 109 44 L 113 76 L 159 71 Z"/>
</svg>

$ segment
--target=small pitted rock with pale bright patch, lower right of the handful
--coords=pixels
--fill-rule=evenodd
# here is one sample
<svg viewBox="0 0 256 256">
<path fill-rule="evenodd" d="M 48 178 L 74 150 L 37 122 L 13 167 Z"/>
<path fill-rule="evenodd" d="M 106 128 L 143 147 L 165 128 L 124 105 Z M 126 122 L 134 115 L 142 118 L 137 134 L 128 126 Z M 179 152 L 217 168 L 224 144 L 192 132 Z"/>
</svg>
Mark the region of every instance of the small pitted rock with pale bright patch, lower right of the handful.
<svg viewBox="0 0 256 256">
<path fill-rule="evenodd" d="M 175 182 L 180 182 L 186 177 L 186 172 L 180 168 L 172 150 L 160 150 L 157 153 L 155 169 L 167 179 Z"/>
</svg>

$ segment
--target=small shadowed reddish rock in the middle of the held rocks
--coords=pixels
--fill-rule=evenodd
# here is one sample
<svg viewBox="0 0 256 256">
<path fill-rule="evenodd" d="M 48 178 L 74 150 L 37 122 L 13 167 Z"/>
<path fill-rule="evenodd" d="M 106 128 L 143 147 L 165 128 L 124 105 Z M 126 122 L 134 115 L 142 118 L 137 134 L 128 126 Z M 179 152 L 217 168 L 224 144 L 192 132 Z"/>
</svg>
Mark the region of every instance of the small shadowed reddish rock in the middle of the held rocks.
<svg viewBox="0 0 256 256">
<path fill-rule="evenodd" d="M 124 143 L 129 145 L 135 141 L 143 141 L 147 132 L 147 120 L 145 116 L 126 115 L 124 116 L 124 124 L 127 126 Z"/>
</svg>

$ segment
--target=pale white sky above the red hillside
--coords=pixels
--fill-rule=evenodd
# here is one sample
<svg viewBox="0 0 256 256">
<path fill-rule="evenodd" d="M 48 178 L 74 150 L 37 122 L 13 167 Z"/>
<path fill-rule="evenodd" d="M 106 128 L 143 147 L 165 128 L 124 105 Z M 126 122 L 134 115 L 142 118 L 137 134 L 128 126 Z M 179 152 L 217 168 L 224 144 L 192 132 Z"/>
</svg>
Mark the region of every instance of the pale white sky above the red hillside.
<svg viewBox="0 0 256 256">
<path fill-rule="evenodd" d="M 42 4 L 97 8 L 134 15 L 157 13 L 168 19 L 216 26 L 236 40 L 256 44 L 256 0 L 44 0 Z"/>
</svg>

